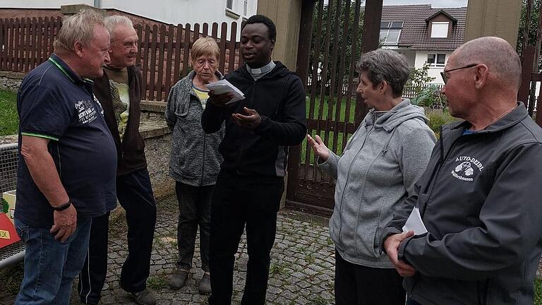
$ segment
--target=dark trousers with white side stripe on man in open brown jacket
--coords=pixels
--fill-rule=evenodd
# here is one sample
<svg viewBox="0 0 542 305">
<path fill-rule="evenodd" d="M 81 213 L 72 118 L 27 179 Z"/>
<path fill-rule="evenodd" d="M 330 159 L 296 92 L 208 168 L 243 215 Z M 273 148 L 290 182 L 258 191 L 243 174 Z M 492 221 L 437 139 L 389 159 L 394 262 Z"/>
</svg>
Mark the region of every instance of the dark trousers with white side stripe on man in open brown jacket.
<svg viewBox="0 0 542 305">
<path fill-rule="evenodd" d="M 116 197 L 126 210 L 128 225 L 128 257 L 122 265 L 121 287 L 127 292 L 141 292 L 147 287 L 156 224 L 156 203 L 147 169 L 117 177 Z M 107 275 L 108 223 L 109 215 L 93 222 L 90 230 L 89 251 L 78 283 L 80 299 L 88 304 L 100 300 Z"/>
</svg>

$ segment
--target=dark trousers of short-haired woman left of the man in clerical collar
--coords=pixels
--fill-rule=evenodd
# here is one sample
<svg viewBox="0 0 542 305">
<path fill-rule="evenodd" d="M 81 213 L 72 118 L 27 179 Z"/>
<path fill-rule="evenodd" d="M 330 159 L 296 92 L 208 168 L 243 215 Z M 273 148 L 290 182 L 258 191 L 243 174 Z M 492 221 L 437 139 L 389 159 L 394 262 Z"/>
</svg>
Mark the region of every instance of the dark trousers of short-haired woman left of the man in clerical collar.
<svg viewBox="0 0 542 305">
<path fill-rule="evenodd" d="M 190 186 L 176 182 L 175 192 L 179 201 L 179 224 L 177 225 L 177 246 L 179 260 L 177 267 L 190 270 L 194 256 L 195 234 L 200 227 L 201 268 L 209 271 L 209 237 L 211 231 L 211 186 Z"/>
</svg>

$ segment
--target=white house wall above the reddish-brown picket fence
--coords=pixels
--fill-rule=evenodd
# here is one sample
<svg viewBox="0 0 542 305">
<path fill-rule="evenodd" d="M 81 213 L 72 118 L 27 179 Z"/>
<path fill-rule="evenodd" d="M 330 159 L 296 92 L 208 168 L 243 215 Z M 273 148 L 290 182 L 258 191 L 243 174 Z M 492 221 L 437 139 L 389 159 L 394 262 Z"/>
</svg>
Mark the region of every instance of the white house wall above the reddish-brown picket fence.
<svg viewBox="0 0 542 305">
<path fill-rule="evenodd" d="M 88 4 L 94 6 L 94 0 L 1 0 L 0 8 L 60 8 L 67 4 Z M 233 18 L 226 14 L 226 0 L 100 0 L 100 8 L 114 8 L 163 23 L 231 23 L 256 13 L 258 0 L 248 0 L 247 16 L 243 16 L 243 0 L 233 0 L 232 12 L 241 16 Z M 219 30 L 220 32 L 220 30 Z M 239 39 L 240 29 L 237 31 Z M 228 29 L 228 38 L 230 32 Z"/>
</svg>

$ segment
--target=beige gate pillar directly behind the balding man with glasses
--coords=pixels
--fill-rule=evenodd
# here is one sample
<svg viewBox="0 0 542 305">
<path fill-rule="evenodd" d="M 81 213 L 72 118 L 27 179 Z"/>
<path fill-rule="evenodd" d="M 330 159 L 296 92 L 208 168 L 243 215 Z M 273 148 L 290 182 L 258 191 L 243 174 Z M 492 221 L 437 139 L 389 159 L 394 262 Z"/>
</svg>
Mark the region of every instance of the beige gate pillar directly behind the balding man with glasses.
<svg viewBox="0 0 542 305">
<path fill-rule="evenodd" d="M 498 36 L 515 48 L 521 13 L 519 0 L 469 0 L 465 41 Z"/>
</svg>

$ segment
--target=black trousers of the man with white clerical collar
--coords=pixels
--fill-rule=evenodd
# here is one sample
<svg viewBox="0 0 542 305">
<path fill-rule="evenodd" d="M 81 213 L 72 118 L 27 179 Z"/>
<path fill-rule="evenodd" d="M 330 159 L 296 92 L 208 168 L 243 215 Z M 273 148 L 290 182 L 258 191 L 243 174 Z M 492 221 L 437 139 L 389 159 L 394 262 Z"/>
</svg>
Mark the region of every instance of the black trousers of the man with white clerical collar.
<svg viewBox="0 0 542 305">
<path fill-rule="evenodd" d="M 219 174 L 211 207 L 209 304 L 231 304 L 234 256 L 245 227 L 248 264 L 241 304 L 265 304 L 283 191 L 284 179 L 279 177 Z"/>
</svg>

